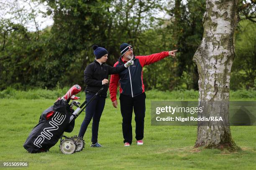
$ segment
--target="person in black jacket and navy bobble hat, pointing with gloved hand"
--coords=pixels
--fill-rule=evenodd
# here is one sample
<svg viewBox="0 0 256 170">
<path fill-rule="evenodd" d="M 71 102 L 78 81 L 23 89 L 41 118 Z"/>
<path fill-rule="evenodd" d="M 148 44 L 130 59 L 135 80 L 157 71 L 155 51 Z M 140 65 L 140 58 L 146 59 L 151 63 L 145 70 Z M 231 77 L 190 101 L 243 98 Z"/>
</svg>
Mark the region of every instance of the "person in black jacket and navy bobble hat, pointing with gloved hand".
<svg viewBox="0 0 256 170">
<path fill-rule="evenodd" d="M 97 91 L 104 85 L 102 92 L 95 97 L 90 105 L 86 107 L 85 118 L 82 122 L 79 136 L 84 137 L 84 133 L 92 120 L 92 145 L 91 147 L 101 147 L 97 142 L 100 117 L 105 106 L 105 99 L 108 91 L 108 75 L 118 74 L 125 70 L 129 65 L 133 65 L 133 60 L 126 62 L 119 67 L 111 67 L 106 65 L 108 60 L 108 51 L 103 47 L 93 45 L 94 55 L 96 60 L 87 65 L 84 70 L 84 82 L 87 85 L 85 88 L 86 100 L 89 101 Z"/>
</svg>

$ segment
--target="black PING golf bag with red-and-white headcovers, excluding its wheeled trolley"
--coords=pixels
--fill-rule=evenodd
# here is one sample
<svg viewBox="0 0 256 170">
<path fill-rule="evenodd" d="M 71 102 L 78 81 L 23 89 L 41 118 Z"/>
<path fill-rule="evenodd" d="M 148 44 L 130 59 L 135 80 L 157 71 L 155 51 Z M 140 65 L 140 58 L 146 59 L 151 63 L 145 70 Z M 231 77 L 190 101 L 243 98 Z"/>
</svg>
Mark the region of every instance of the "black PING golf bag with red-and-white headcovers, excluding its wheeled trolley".
<svg viewBox="0 0 256 170">
<path fill-rule="evenodd" d="M 29 153 L 47 152 L 53 147 L 64 132 L 72 132 L 74 120 L 70 121 L 74 109 L 68 104 L 69 100 L 77 99 L 74 96 L 81 91 L 79 85 L 74 85 L 66 95 L 59 98 L 53 106 L 44 110 L 38 124 L 29 134 L 23 147 Z"/>
</svg>

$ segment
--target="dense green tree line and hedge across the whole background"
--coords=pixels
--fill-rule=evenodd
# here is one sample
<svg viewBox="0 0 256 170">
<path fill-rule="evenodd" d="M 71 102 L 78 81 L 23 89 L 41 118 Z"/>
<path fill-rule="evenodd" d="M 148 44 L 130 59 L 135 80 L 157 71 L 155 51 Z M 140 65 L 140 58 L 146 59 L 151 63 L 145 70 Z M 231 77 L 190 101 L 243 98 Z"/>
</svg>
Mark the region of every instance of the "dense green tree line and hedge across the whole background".
<svg viewBox="0 0 256 170">
<path fill-rule="evenodd" d="M 178 49 L 177 58 L 165 58 L 143 71 L 145 88 L 198 90 L 197 67 L 192 57 L 202 40 L 205 0 L 32 0 L 47 5 L 44 15 L 54 24 L 38 29 L 38 11 L 18 1 L 1 2 L 15 16 L 0 18 L 0 90 L 33 87 L 84 86 L 84 68 L 94 60 L 92 45 L 109 52 L 108 65 L 120 56 L 120 44 L 133 45 L 135 55 Z M 236 57 L 231 90 L 256 89 L 256 23 L 254 0 L 238 5 Z M 26 22 L 34 23 L 29 31 Z"/>
</svg>

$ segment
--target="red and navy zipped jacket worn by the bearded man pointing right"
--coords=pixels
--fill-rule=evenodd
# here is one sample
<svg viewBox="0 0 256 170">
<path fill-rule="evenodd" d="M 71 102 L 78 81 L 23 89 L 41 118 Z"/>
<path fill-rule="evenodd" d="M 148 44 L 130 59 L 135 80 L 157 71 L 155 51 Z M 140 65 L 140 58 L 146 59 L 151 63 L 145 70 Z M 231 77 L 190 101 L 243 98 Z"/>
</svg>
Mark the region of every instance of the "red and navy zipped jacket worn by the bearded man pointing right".
<svg viewBox="0 0 256 170">
<path fill-rule="evenodd" d="M 110 78 L 110 98 L 112 101 L 116 99 L 118 82 L 120 83 L 120 94 L 135 97 L 144 92 L 143 84 L 143 67 L 152 64 L 156 61 L 163 59 L 169 55 L 168 51 L 146 55 L 146 56 L 133 56 L 133 65 L 128 69 L 123 70 L 119 74 L 111 75 Z M 121 56 L 114 67 L 124 64 L 126 61 Z"/>
</svg>

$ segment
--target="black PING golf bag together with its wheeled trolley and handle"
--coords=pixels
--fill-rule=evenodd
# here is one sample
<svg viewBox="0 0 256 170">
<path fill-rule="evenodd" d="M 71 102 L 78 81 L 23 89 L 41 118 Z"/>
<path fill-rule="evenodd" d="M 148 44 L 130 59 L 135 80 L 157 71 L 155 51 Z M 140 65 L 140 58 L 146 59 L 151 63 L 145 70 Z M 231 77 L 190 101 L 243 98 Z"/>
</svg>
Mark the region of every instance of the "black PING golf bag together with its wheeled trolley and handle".
<svg viewBox="0 0 256 170">
<path fill-rule="evenodd" d="M 23 147 L 29 153 L 47 152 L 60 139 L 61 143 L 59 147 L 62 153 L 72 154 L 82 151 L 85 145 L 82 137 L 73 136 L 69 138 L 64 136 L 63 133 L 72 132 L 74 129 L 74 120 L 103 89 L 104 87 L 95 93 L 88 102 L 85 100 L 80 105 L 80 102 L 73 101 L 69 105 L 70 100 L 79 99 L 75 95 L 81 91 L 79 85 L 71 87 L 62 98 L 59 98 L 53 106 L 41 114 L 38 124 L 29 134 Z M 76 110 L 72 109 L 73 105 L 77 106 Z M 62 137 L 65 139 L 63 140 Z"/>
</svg>

